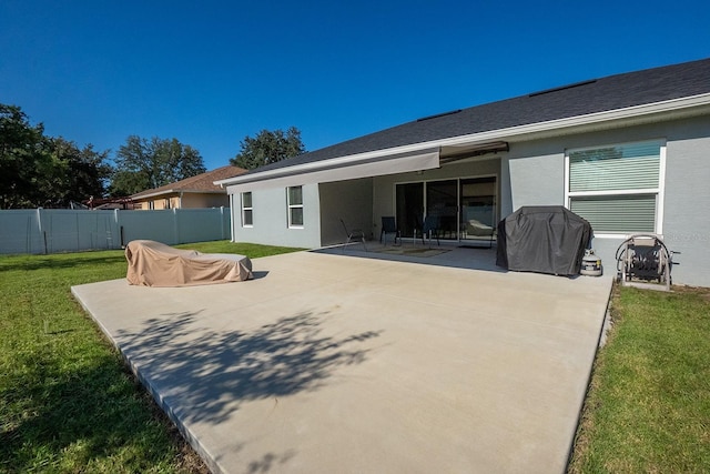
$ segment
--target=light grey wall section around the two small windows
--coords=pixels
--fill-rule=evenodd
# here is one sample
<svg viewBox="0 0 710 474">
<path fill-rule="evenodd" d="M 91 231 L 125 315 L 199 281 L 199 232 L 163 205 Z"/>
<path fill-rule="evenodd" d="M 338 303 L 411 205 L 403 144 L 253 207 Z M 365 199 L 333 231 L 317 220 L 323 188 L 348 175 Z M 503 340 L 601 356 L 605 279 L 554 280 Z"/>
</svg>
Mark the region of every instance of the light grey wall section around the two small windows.
<svg viewBox="0 0 710 474">
<path fill-rule="evenodd" d="M 242 196 L 233 194 L 232 241 L 315 249 L 321 246 L 317 184 L 303 185 L 303 228 L 288 228 L 285 188 L 252 192 L 253 225 L 242 223 Z"/>
</svg>

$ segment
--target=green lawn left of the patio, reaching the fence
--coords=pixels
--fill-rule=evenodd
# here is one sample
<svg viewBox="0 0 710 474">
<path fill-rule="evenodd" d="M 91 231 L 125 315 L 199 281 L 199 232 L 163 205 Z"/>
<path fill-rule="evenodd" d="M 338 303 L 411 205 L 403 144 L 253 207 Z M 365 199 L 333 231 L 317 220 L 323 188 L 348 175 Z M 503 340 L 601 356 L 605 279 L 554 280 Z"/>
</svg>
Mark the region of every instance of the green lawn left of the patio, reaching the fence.
<svg viewBox="0 0 710 474">
<path fill-rule="evenodd" d="M 250 258 L 295 249 L 181 245 Z M 125 276 L 122 251 L 0 255 L 0 472 L 204 472 L 70 286 Z"/>
</svg>

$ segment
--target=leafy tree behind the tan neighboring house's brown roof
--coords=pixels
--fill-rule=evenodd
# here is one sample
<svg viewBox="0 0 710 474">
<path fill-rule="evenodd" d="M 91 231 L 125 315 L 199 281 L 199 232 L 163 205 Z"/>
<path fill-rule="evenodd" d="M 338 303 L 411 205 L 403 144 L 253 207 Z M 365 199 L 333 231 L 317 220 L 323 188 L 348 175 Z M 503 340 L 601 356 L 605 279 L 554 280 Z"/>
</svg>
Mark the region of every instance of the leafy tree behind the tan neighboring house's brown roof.
<svg viewBox="0 0 710 474">
<path fill-rule="evenodd" d="M 114 196 L 135 194 L 205 171 L 200 152 L 176 139 L 148 140 L 131 135 L 116 153 L 110 193 Z"/>
</svg>

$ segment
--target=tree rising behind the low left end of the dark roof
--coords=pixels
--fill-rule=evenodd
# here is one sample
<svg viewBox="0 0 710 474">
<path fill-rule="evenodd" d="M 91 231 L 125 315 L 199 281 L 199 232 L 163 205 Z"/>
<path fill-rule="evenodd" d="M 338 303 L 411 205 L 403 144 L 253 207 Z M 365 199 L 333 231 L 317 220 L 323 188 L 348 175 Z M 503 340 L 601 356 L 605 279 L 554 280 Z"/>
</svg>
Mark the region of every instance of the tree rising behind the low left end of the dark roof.
<svg viewBox="0 0 710 474">
<path fill-rule="evenodd" d="M 295 127 L 291 127 L 285 133 L 283 130 L 262 130 L 255 138 L 245 137 L 240 147 L 241 151 L 230 163 L 246 170 L 276 163 L 306 151 L 301 141 L 301 131 Z"/>
</svg>

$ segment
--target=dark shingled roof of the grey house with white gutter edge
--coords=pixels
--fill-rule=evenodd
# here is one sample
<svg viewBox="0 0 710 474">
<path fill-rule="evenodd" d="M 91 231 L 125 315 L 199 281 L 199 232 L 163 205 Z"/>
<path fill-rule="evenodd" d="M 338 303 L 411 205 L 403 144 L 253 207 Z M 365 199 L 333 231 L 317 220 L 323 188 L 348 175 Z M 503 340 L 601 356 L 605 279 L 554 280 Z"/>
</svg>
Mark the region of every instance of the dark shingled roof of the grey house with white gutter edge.
<svg viewBox="0 0 710 474">
<path fill-rule="evenodd" d="M 679 99 L 697 97 L 700 97 L 697 102 L 676 103 Z M 479 142 L 486 138 L 500 140 L 503 134 L 496 137 L 496 131 L 515 129 L 523 133 L 524 129 L 529 129 L 531 132 L 536 130 L 532 125 L 540 123 L 547 123 L 548 129 L 569 127 L 572 119 L 579 117 L 604 114 L 605 120 L 609 120 L 612 118 L 611 112 L 620 110 L 628 111 L 625 117 L 648 114 L 655 110 L 641 111 L 639 107 L 658 103 L 667 103 L 663 110 L 710 104 L 710 59 L 609 75 L 422 118 L 261 167 L 220 184 L 239 184 L 276 177 L 280 170 L 286 171 L 286 168 L 313 170 L 318 162 L 343 157 L 362 155 L 371 160 L 386 160 L 392 158 L 392 153 L 399 151 L 420 151 L 465 143 L 447 140 L 457 137 L 470 138 L 468 143 L 475 142 L 475 139 L 479 139 Z M 389 153 L 387 155 L 382 152 L 386 150 Z"/>
</svg>

